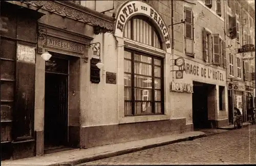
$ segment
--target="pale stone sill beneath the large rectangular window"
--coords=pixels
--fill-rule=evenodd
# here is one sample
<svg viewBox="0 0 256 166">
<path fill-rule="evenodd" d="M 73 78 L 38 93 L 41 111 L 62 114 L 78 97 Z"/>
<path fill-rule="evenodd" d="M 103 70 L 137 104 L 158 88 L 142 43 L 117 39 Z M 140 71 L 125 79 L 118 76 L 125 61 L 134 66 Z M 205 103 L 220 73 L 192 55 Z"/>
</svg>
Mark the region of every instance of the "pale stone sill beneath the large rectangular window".
<svg viewBox="0 0 256 166">
<path fill-rule="evenodd" d="M 119 124 L 123 123 L 137 123 L 137 122 L 150 122 L 150 121 L 161 121 L 169 120 L 169 115 L 145 115 L 145 116 L 130 116 L 119 118 Z"/>
</svg>

